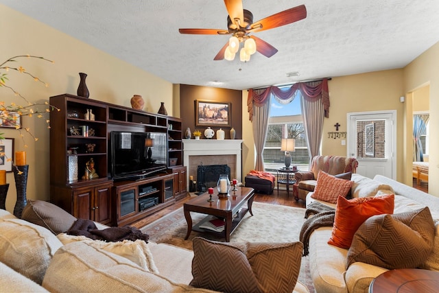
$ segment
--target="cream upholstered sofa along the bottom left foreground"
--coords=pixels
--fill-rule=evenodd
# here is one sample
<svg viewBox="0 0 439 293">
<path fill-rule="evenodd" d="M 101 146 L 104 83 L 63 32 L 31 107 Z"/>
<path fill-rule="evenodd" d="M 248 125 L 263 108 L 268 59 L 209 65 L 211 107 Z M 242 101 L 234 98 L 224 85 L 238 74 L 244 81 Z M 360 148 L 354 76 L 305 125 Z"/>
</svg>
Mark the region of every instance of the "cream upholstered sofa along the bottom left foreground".
<svg viewBox="0 0 439 293">
<path fill-rule="evenodd" d="M 28 200 L 22 218 L 32 222 L 0 209 L 1 292 L 215 292 L 189 285 L 193 280 L 191 250 L 151 241 L 109 243 L 61 233 L 75 218 L 47 202 Z M 302 245 L 298 244 L 294 245 L 300 246 L 300 260 Z M 224 269 L 239 278 L 236 267 Z M 294 292 L 309 291 L 297 282 Z"/>
</svg>

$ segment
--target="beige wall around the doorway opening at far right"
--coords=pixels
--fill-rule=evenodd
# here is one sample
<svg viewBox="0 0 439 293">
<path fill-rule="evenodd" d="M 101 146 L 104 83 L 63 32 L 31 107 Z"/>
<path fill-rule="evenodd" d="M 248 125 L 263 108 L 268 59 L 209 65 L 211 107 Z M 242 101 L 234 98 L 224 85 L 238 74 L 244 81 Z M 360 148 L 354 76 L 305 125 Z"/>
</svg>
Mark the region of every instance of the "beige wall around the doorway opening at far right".
<svg viewBox="0 0 439 293">
<path fill-rule="evenodd" d="M 416 89 L 420 89 L 423 86 L 429 85 L 429 108 L 430 111 L 430 129 L 439 129 L 439 115 L 434 109 L 439 109 L 439 43 L 436 43 L 418 58 L 416 58 L 410 65 L 407 65 L 404 69 L 404 90 L 407 97 L 407 103 L 405 103 L 405 112 L 412 113 L 412 96 Z M 407 133 L 412 132 L 412 119 L 407 119 Z M 405 143 L 407 145 L 407 152 L 405 153 L 405 161 L 412 160 L 412 144 L 410 135 L 406 135 Z M 439 136 L 431 135 L 429 148 L 431 150 L 429 154 L 429 178 L 439 178 L 439 152 L 436 145 L 439 145 Z M 436 150 L 436 152 L 434 151 Z M 410 178 L 412 170 L 411 168 L 405 169 L 405 180 Z M 439 196 L 439 181 L 429 180 L 429 194 Z"/>
</svg>

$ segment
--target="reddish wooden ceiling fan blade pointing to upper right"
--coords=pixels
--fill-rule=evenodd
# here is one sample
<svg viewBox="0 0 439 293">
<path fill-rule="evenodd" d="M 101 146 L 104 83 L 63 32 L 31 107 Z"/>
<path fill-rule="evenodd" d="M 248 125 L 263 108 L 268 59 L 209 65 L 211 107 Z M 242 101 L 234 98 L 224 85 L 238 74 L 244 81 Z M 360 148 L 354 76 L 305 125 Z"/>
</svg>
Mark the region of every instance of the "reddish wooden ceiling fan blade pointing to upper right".
<svg viewBox="0 0 439 293">
<path fill-rule="evenodd" d="M 262 32 L 263 30 L 270 30 L 274 27 L 281 27 L 282 25 L 300 21 L 300 19 L 305 19 L 305 17 L 307 17 L 307 8 L 305 8 L 305 5 L 300 5 L 265 17 L 265 19 L 253 23 L 251 27 L 256 28 L 262 25 L 261 29 L 256 30 L 257 32 Z"/>
</svg>

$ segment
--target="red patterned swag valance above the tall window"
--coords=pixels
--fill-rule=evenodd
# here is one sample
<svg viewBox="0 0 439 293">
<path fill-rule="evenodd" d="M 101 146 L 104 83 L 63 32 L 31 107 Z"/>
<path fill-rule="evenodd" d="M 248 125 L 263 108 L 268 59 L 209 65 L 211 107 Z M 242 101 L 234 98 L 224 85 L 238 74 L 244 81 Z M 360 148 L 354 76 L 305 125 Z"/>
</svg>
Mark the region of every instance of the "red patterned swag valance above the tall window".
<svg viewBox="0 0 439 293">
<path fill-rule="evenodd" d="M 317 84 L 317 85 L 316 85 Z M 300 91 L 302 96 L 308 101 L 315 101 L 316 99 L 322 99 L 322 104 L 324 105 L 324 117 L 329 117 L 329 91 L 328 91 L 328 80 L 324 78 L 322 82 L 298 82 L 293 84 L 289 89 L 281 89 L 277 86 L 269 86 L 264 91 L 258 91 L 256 93 L 253 89 L 248 91 L 247 98 L 247 110 L 248 119 L 253 121 L 253 105 L 262 106 L 268 102 L 270 93 L 278 97 L 278 99 L 290 99 L 296 91 Z"/>
</svg>

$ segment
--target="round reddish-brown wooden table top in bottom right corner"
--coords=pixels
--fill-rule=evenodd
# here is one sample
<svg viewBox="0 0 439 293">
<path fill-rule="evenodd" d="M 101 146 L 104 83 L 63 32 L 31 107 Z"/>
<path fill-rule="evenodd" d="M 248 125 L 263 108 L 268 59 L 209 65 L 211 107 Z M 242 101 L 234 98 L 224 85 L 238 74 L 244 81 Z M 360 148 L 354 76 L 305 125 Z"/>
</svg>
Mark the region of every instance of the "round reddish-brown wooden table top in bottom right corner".
<svg viewBox="0 0 439 293">
<path fill-rule="evenodd" d="M 388 270 L 375 278 L 370 293 L 438 292 L 439 272 L 417 268 Z"/>
</svg>

